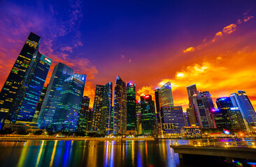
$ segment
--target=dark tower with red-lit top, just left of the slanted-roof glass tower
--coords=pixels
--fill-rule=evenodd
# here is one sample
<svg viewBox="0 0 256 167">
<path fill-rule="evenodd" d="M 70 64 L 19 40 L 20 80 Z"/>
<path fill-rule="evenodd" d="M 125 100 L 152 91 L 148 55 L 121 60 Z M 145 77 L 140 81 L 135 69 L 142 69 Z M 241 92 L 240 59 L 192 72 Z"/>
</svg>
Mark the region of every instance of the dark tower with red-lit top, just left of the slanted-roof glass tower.
<svg viewBox="0 0 256 167">
<path fill-rule="evenodd" d="M 151 95 L 141 96 L 141 126 L 142 134 L 155 134 L 156 118 L 155 104 Z"/>
</svg>

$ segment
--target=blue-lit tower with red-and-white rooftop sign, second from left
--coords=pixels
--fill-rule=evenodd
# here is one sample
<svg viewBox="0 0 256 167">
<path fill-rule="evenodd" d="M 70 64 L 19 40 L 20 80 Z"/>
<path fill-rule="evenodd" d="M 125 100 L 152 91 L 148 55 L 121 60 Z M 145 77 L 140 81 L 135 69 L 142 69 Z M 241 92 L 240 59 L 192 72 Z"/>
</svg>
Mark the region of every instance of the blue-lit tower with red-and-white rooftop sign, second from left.
<svg viewBox="0 0 256 167">
<path fill-rule="evenodd" d="M 8 120 L 13 123 L 32 122 L 36 106 L 45 84 L 52 61 L 38 51 L 33 56 L 15 100 L 10 107 Z"/>
</svg>

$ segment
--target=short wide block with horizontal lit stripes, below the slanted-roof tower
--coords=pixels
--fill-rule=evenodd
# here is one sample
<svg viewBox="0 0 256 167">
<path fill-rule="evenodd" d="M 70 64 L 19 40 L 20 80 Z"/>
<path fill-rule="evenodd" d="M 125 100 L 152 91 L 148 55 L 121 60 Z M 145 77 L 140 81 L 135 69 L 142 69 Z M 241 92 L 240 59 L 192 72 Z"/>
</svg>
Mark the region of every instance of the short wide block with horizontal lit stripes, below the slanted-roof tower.
<svg viewBox="0 0 256 167">
<path fill-rule="evenodd" d="M 182 106 L 161 107 L 162 129 L 165 136 L 180 136 L 185 127 Z"/>
</svg>

